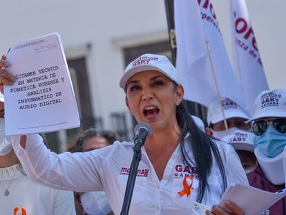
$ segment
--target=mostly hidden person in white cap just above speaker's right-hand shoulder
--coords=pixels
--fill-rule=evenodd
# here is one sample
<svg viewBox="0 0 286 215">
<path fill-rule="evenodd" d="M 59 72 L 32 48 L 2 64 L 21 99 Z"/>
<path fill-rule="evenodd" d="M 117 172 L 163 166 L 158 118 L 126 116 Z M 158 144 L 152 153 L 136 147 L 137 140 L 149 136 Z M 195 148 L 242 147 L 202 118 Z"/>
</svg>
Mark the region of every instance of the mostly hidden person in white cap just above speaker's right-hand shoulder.
<svg viewBox="0 0 286 215">
<path fill-rule="evenodd" d="M 238 130 L 222 138 L 222 141 L 231 144 L 236 149 L 245 173 L 254 170 L 257 162 L 254 154 L 254 133 Z"/>
</svg>

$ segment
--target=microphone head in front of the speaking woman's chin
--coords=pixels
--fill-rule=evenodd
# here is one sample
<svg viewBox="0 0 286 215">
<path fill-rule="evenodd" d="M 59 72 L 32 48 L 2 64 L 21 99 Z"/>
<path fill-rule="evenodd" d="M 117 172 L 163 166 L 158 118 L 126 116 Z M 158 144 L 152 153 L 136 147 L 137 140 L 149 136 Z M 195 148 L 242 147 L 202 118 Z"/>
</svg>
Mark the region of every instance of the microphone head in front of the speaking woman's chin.
<svg viewBox="0 0 286 215">
<path fill-rule="evenodd" d="M 133 144 L 133 149 L 139 144 L 140 147 L 143 147 L 144 142 L 152 133 L 151 126 L 145 122 L 140 122 L 135 126 L 134 129 L 135 140 Z"/>
</svg>

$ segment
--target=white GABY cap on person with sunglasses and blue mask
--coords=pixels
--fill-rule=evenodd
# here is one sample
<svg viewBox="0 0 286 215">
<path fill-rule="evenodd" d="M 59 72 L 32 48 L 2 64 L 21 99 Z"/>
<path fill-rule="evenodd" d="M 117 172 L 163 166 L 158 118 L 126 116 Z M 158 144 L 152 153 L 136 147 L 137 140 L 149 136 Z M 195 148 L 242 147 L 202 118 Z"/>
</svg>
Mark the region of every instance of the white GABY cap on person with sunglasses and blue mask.
<svg viewBox="0 0 286 215">
<path fill-rule="evenodd" d="M 286 89 L 261 92 L 254 101 L 254 117 L 247 123 L 268 117 L 286 118 Z"/>
</svg>

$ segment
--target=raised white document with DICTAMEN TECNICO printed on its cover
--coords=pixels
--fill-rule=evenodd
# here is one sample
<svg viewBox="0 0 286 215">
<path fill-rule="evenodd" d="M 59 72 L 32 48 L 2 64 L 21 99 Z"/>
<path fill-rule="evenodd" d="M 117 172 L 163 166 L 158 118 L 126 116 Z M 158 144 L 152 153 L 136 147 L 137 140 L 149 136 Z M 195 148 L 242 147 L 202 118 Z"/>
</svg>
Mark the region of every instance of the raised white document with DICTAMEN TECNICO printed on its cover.
<svg viewBox="0 0 286 215">
<path fill-rule="evenodd" d="M 4 86 L 6 135 L 79 127 L 79 113 L 57 33 L 16 44 L 7 55 L 17 80 Z"/>
</svg>

